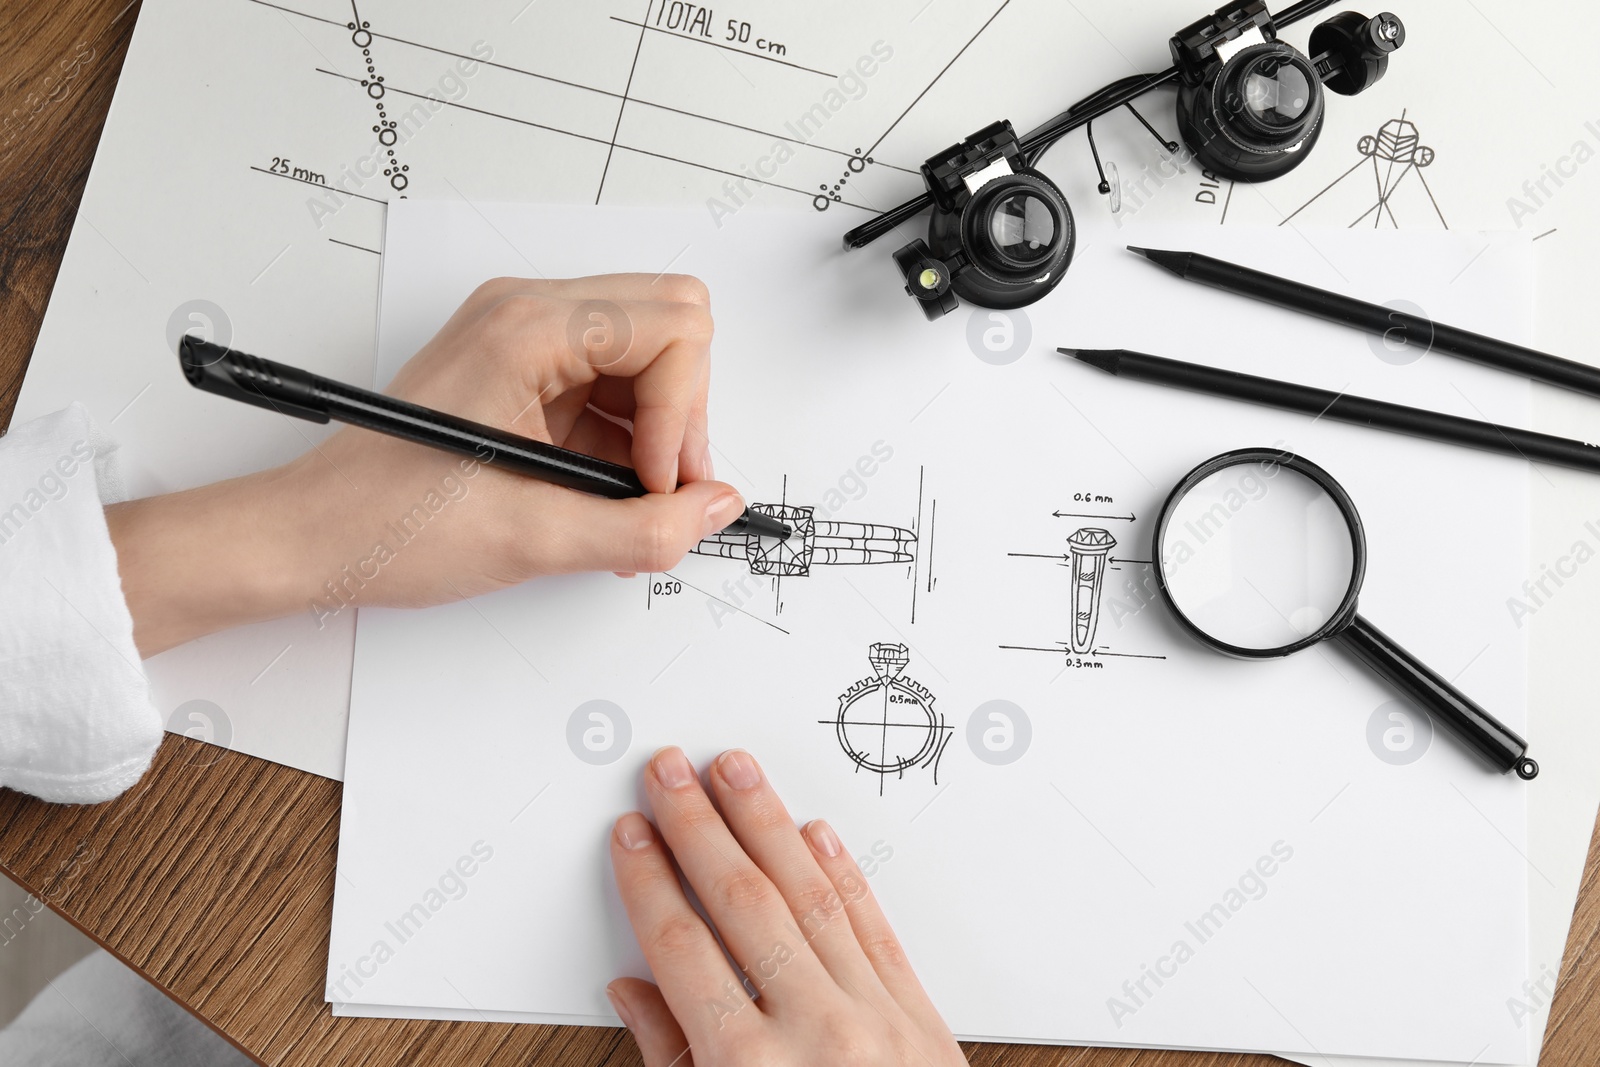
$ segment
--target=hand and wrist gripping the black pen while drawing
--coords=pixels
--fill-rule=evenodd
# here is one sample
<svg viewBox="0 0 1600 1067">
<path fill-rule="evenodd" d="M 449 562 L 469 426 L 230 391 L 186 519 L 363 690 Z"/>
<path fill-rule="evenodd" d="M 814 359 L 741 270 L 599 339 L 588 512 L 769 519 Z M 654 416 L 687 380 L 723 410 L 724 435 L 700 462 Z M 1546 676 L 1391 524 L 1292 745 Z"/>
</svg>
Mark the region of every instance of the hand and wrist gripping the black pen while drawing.
<svg viewBox="0 0 1600 1067">
<path fill-rule="evenodd" d="M 710 338 L 688 277 L 478 286 L 390 395 L 629 464 L 651 494 L 608 501 L 346 427 L 275 470 L 107 509 L 139 651 L 294 611 L 674 566 L 744 510 L 710 480 Z"/>
</svg>

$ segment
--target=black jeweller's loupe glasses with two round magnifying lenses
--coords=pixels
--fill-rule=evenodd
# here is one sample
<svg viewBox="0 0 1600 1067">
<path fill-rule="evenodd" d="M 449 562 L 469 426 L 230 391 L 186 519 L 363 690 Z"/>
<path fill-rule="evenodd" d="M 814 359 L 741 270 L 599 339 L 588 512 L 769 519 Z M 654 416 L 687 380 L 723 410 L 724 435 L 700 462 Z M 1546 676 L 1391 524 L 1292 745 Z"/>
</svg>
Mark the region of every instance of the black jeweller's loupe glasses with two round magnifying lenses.
<svg viewBox="0 0 1600 1067">
<path fill-rule="evenodd" d="M 1170 141 L 1133 101 L 1163 85 L 1178 86 L 1178 131 L 1208 171 L 1235 181 L 1266 181 L 1306 158 L 1322 133 L 1323 90 L 1354 96 L 1389 69 L 1405 43 L 1405 26 L 1384 11 L 1346 11 L 1317 26 L 1310 54 L 1278 40 L 1278 30 L 1330 6 L 1301 0 L 1277 18 L 1264 0 L 1234 0 L 1173 35 L 1173 66 L 1096 90 L 1026 136 L 1010 122 L 984 126 L 922 165 L 926 192 L 845 234 L 845 248 L 878 240 L 931 208 L 926 240 L 894 253 L 910 294 L 933 320 L 965 299 L 1000 310 L 1026 307 L 1054 290 L 1072 262 L 1072 210 L 1040 157 L 1083 126 L 1099 173 L 1094 120 L 1123 107 L 1162 142 Z"/>
</svg>

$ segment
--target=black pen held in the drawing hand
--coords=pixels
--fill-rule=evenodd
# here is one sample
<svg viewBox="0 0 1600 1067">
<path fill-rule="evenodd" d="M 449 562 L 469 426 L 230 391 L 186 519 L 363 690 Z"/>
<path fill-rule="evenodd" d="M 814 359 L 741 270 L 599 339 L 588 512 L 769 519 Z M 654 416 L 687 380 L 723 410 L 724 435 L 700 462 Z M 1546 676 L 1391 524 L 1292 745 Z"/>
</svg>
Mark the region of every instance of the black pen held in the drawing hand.
<svg viewBox="0 0 1600 1067">
<path fill-rule="evenodd" d="M 195 389 L 258 408 L 310 422 L 330 419 L 349 422 L 595 496 L 626 499 L 648 493 L 629 467 L 395 400 L 370 389 L 346 386 L 192 334 L 184 334 L 178 342 L 178 360 Z M 750 509 L 733 520 L 728 530 L 779 539 L 787 539 L 794 533 L 787 523 Z"/>
</svg>

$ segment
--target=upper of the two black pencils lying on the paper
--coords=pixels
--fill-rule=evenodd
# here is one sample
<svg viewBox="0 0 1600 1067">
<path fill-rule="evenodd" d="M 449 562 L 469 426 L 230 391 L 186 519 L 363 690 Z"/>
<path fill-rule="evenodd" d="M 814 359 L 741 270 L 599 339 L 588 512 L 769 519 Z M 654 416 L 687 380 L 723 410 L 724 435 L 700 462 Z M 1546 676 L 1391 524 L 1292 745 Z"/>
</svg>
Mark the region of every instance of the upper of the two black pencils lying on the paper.
<svg viewBox="0 0 1600 1067">
<path fill-rule="evenodd" d="M 1422 315 L 1411 315 L 1382 304 L 1368 304 L 1352 296 L 1330 293 L 1312 285 L 1291 282 L 1275 274 L 1251 270 L 1226 259 L 1213 259 L 1192 251 L 1165 251 L 1160 248 L 1134 248 L 1128 251 L 1144 256 L 1158 267 L 1166 267 L 1186 282 L 1198 282 L 1226 293 L 1277 304 L 1293 312 L 1302 312 L 1328 322 L 1355 326 L 1390 341 L 1414 346 L 1422 350 L 1446 352 L 1474 363 L 1538 378 L 1552 386 L 1576 389 L 1600 397 L 1600 368 L 1563 360 L 1544 352 L 1525 349 L 1520 344 L 1486 338 Z"/>
</svg>

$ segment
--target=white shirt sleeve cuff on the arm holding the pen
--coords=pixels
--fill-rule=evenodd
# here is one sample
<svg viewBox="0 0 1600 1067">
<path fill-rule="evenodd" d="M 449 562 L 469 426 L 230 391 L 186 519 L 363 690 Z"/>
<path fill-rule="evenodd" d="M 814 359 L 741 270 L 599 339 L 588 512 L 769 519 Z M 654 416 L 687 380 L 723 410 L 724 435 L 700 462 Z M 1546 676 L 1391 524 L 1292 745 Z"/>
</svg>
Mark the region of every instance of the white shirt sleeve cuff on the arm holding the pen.
<svg viewBox="0 0 1600 1067">
<path fill-rule="evenodd" d="M 0 785 L 43 800 L 110 800 L 162 741 L 106 530 L 114 451 L 78 403 L 0 437 Z"/>
</svg>

